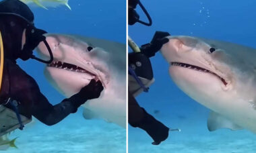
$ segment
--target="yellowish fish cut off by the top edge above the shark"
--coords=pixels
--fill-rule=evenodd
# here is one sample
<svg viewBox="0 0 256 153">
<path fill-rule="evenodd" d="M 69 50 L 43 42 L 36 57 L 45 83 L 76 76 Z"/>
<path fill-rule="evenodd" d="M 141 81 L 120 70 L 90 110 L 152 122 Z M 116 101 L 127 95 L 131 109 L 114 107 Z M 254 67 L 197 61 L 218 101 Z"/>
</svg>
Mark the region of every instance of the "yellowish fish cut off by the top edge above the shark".
<svg viewBox="0 0 256 153">
<path fill-rule="evenodd" d="M 47 9 L 46 7 L 57 7 L 59 5 L 66 5 L 70 10 L 71 7 L 69 6 L 69 0 L 20 0 L 27 5 L 31 3 L 35 3 L 39 7 Z"/>
</svg>

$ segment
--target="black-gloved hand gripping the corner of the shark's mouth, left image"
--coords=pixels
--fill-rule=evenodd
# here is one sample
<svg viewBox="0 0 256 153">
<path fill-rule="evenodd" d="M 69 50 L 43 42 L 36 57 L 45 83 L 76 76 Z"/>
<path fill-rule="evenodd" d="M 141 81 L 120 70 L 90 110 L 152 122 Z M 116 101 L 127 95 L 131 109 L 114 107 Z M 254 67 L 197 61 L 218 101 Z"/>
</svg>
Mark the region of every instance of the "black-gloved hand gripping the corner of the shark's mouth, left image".
<svg viewBox="0 0 256 153">
<path fill-rule="evenodd" d="M 72 113 L 77 111 L 77 108 L 86 103 L 89 99 L 96 99 L 100 97 L 100 93 L 103 91 L 103 86 L 100 81 L 92 80 L 89 85 L 83 87 L 79 93 L 69 97 L 68 99 L 64 99 L 63 101 L 71 101 L 72 105 L 75 107 L 75 110 Z"/>
</svg>

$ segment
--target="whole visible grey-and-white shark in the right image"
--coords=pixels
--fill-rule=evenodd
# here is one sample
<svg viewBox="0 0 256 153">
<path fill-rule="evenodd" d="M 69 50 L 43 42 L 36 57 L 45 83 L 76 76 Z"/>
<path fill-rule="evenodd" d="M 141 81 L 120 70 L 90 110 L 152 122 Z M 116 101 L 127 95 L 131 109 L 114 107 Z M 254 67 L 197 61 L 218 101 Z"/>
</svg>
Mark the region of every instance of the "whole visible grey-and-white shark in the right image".
<svg viewBox="0 0 256 153">
<path fill-rule="evenodd" d="M 161 52 L 170 64 L 170 77 L 189 97 L 212 110 L 208 129 L 245 128 L 255 133 L 256 50 L 189 36 L 168 38 Z"/>
</svg>

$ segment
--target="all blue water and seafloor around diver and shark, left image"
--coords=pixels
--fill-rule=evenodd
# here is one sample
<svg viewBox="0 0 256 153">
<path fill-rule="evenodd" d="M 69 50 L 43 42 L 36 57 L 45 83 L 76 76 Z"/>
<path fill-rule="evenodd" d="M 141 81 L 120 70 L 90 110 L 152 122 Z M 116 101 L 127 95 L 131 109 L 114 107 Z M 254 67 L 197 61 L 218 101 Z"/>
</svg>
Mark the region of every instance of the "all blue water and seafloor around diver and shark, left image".
<svg viewBox="0 0 256 153">
<path fill-rule="evenodd" d="M 65 5 L 49 10 L 37 6 L 34 12 L 36 28 L 49 33 L 78 34 L 80 36 L 102 38 L 115 42 L 126 42 L 126 3 L 120 0 L 70 0 L 69 10 Z M 35 60 L 18 64 L 38 83 L 41 92 L 53 105 L 65 97 L 59 94 L 44 78 L 44 64 Z M 15 130 L 9 139 L 18 137 L 16 148 L 8 153 L 94 153 L 125 152 L 126 130 L 114 123 L 103 120 L 86 120 L 82 109 L 69 115 L 60 123 L 47 126 L 35 120 L 25 125 L 23 131 Z"/>
</svg>

